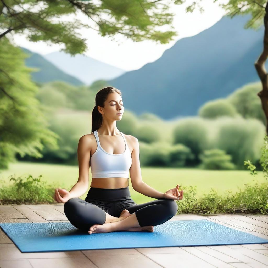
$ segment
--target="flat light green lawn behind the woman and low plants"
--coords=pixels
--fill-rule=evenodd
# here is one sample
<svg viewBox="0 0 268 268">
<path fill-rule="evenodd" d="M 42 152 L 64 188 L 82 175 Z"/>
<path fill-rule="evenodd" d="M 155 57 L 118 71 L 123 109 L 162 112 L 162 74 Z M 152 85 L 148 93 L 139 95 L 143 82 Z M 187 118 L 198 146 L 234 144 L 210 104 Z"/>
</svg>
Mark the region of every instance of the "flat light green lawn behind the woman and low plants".
<svg viewBox="0 0 268 268">
<path fill-rule="evenodd" d="M 0 172 L 0 179 L 8 185 L 8 177 L 10 175 L 23 176 L 31 174 L 34 178 L 42 174 L 43 181 L 48 184 L 55 183 L 58 187 L 70 190 L 78 179 L 77 166 L 52 165 L 43 163 L 17 162 L 10 163 L 8 170 Z M 142 179 L 152 188 L 166 192 L 177 184 L 182 187 L 197 186 L 197 195 L 203 196 L 203 192 L 208 192 L 211 188 L 218 191 L 220 195 L 225 195 L 225 190 L 231 189 L 232 192 L 237 192 L 240 187 L 244 189 L 245 183 L 258 184 L 267 182 L 263 176 L 263 172 L 259 171 L 256 177 L 250 175 L 248 170 L 200 170 L 194 168 L 142 168 Z M 91 183 L 91 173 L 90 173 Z M 89 183 L 89 185 L 90 185 Z M 90 187 L 89 187 L 90 188 Z M 131 180 L 129 180 L 129 189 L 133 200 L 140 204 L 154 200 L 148 196 L 144 196 L 133 190 Z M 87 192 L 81 196 L 85 199 Z"/>
</svg>

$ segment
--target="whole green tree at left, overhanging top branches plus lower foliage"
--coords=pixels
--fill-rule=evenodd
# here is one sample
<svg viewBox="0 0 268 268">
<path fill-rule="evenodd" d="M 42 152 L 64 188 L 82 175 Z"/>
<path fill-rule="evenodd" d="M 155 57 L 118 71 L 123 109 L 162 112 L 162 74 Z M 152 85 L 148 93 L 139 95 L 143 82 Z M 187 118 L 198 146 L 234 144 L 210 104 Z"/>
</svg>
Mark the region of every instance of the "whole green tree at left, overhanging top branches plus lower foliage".
<svg viewBox="0 0 268 268">
<path fill-rule="evenodd" d="M 65 44 L 62 49 L 71 55 L 87 50 L 84 38 L 76 32 L 81 27 L 92 28 L 101 36 L 120 33 L 139 42 L 145 39 L 161 44 L 172 40 L 176 32 L 160 31 L 157 27 L 170 25 L 173 15 L 169 6 L 147 0 L 0 0 L 0 169 L 20 153 L 42 157 L 39 150 L 47 143 L 54 148 L 57 135 L 49 131 L 35 93 L 36 84 L 24 65 L 25 54 L 10 39 L 14 33 L 26 33 L 32 42 Z M 76 19 L 62 20 L 64 15 L 86 15 L 95 26 Z M 61 19 L 61 20 L 58 20 Z"/>
</svg>

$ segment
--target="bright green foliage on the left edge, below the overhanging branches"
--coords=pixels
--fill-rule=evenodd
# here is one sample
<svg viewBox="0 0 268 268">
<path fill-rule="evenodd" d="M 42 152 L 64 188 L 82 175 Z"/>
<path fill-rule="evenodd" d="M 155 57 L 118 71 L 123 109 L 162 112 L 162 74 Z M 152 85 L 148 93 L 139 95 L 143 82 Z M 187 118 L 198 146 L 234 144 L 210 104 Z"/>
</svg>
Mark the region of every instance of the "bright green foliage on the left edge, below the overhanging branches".
<svg viewBox="0 0 268 268">
<path fill-rule="evenodd" d="M 25 54 L 6 37 L 0 41 L 0 169 L 15 160 L 15 154 L 42 157 L 38 150 L 49 144 L 57 149 L 58 135 L 47 121 L 35 98 L 38 87 L 24 65 Z"/>
</svg>

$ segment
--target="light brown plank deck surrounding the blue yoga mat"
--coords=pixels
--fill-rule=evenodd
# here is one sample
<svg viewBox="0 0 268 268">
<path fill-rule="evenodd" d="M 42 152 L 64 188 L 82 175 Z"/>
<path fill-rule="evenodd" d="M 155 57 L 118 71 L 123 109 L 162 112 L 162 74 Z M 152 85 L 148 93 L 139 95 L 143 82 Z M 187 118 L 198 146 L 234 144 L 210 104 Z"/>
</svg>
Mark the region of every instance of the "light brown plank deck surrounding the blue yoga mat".
<svg viewBox="0 0 268 268">
<path fill-rule="evenodd" d="M 63 205 L 2 205 L 0 222 L 69 222 L 65 217 Z M 204 218 L 268 239 L 268 215 L 180 214 L 170 221 Z M 137 268 L 143 266 L 146 268 L 264 268 L 268 267 L 268 244 L 21 253 L 0 229 L 1 268 Z"/>
</svg>

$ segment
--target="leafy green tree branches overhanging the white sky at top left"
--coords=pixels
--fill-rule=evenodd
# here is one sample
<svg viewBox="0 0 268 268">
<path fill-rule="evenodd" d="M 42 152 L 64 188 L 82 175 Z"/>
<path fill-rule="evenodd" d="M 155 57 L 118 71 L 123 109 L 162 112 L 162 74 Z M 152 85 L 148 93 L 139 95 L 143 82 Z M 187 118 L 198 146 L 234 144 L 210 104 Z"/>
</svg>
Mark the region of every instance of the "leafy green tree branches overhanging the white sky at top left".
<svg viewBox="0 0 268 268">
<path fill-rule="evenodd" d="M 91 28 L 101 36 L 120 33 L 139 42 L 145 39 L 168 43 L 177 35 L 175 31 L 161 32 L 155 28 L 170 25 L 173 13 L 161 1 L 147 0 L 101 0 L 99 4 L 77 0 L 0 0 L 0 38 L 8 33 L 28 31 L 28 39 L 36 42 L 44 40 L 55 44 L 65 44 L 62 49 L 75 55 L 83 53 L 87 46 L 83 38 L 75 32 L 80 27 Z M 95 26 L 74 22 L 57 21 L 63 15 L 83 13 Z"/>
</svg>

